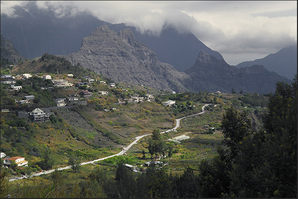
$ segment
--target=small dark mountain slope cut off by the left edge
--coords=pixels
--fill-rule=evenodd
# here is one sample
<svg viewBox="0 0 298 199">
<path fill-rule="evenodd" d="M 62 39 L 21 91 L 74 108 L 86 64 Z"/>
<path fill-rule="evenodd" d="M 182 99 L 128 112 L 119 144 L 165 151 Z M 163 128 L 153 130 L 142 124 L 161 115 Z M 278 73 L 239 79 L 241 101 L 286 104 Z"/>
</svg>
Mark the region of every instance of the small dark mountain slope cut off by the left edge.
<svg viewBox="0 0 298 199">
<path fill-rule="evenodd" d="M 1 59 L 16 64 L 18 61 L 25 61 L 27 58 L 20 55 L 13 43 L 10 40 L 3 38 L 1 35 Z"/>
</svg>

